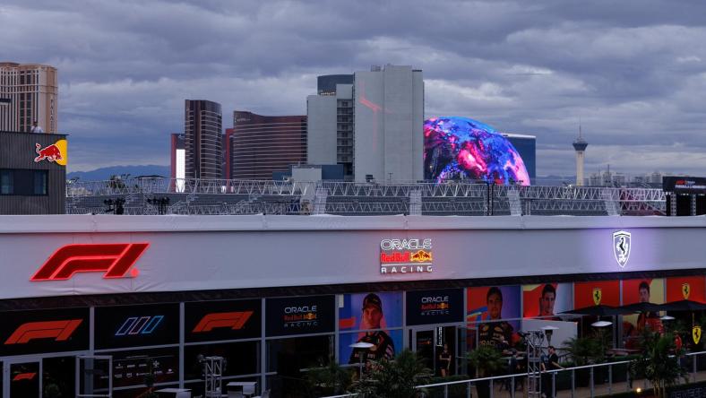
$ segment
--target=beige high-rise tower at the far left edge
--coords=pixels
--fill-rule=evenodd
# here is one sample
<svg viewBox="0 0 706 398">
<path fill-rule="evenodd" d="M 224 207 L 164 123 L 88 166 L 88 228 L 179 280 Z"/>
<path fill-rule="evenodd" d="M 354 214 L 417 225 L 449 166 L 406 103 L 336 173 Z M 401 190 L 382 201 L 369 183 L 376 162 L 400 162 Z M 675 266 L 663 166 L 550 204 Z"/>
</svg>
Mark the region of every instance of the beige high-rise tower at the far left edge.
<svg viewBox="0 0 706 398">
<path fill-rule="evenodd" d="M 58 93 L 55 67 L 0 63 L 0 130 L 29 132 L 37 122 L 56 133 Z"/>
</svg>

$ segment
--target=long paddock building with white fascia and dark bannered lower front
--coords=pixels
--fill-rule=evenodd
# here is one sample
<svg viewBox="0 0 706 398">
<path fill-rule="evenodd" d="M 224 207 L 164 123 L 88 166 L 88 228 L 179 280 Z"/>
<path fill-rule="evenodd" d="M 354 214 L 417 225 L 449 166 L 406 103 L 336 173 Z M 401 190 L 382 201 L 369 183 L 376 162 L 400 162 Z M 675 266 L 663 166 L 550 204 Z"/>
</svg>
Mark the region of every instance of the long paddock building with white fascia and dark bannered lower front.
<svg viewBox="0 0 706 398">
<path fill-rule="evenodd" d="M 371 333 L 375 358 L 409 348 L 438 375 L 443 344 L 463 359 L 552 325 L 562 347 L 595 321 L 564 311 L 633 304 L 644 285 L 651 303 L 706 302 L 704 238 L 702 217 L 4 216 L 0 395 L 39 397 L 56 380 L 63 396 L 135 397 L 151 371 L 158 388 L 203 396 L 215 356 L 223 385 L 312 396 L 292 380 L 357 364 L 350 345 Z M 639 335 L 635 319 L 615 324 L 626 347 Z M 475 375 L 466 360 L 447 371 Z"/>
</svg>

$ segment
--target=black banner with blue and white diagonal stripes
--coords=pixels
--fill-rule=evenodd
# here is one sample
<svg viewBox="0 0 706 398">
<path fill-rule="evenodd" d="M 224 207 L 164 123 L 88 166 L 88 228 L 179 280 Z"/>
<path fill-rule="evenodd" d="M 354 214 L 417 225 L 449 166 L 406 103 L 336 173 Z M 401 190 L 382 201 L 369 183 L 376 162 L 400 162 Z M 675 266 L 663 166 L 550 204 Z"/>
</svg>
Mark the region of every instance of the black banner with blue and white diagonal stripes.
<svg viewBox="0 0 706 398">
<path fill-rule="evenodd" d="M 96 349 L 178 344 L 179 305 L 96 308 Z"/>
</svg>

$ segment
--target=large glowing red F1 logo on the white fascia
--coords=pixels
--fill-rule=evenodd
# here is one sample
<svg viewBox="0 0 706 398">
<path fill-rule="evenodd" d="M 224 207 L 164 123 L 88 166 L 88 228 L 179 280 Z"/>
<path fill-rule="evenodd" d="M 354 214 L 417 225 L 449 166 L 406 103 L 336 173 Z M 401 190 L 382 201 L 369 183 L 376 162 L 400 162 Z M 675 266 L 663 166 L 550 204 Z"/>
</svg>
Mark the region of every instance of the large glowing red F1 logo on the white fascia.
<svg viewBox="0 0 706 398">
<path fill-rule="evenodd" d="M 74 273 L 103 273 L 103 278 L 137 276 L 130 270 L 149 243 L 77 244 L 60 247 L 30 281 L 65 281 Z"/>
</svg>

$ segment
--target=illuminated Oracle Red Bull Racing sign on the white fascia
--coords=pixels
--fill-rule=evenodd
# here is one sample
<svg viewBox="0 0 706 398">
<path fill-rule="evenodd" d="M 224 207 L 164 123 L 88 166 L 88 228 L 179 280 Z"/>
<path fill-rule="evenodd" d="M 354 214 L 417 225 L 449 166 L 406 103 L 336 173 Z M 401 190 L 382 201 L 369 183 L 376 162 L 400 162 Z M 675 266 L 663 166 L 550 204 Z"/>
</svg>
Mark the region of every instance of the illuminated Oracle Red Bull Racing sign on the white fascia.
<svg viewBox="0 0 706 398">
<path fill-rule="evenodd" d="M 380 241 L 380 273 L 431 273 L 433 260 L 431 238 Z"/>
</svg>

